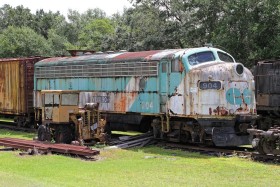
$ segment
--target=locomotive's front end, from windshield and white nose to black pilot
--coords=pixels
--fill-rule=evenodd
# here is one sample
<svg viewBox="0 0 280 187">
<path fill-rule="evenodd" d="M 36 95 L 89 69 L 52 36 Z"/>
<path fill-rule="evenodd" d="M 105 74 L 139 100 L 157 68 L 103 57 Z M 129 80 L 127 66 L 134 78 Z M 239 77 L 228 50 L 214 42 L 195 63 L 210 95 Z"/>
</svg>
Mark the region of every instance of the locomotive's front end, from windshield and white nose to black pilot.
<svg viewBox="0 0 280 187">
<path fill-rule="evenodd" d="M 247 129 L 257 117 L 252 73 L 215 48 L 189 52 L 182 59 L 186 115 L 196 119 L 204 139 L 216 146 L 250 144 Z"/>
</svg>

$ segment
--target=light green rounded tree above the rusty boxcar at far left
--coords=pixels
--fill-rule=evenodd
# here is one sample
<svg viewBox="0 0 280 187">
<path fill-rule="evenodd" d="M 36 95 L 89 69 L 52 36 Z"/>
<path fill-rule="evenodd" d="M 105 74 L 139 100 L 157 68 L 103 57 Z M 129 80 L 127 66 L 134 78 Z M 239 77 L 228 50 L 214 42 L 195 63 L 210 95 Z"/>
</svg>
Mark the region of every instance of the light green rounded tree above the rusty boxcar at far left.
<svg viewBox="0 0 280 187">
<path fill-rule="evenodd" d="M 8 27 L 0 34 L 0 56 L 48 56 L 51 48 L 44 37 L 28 27 Z"/>
</svg>

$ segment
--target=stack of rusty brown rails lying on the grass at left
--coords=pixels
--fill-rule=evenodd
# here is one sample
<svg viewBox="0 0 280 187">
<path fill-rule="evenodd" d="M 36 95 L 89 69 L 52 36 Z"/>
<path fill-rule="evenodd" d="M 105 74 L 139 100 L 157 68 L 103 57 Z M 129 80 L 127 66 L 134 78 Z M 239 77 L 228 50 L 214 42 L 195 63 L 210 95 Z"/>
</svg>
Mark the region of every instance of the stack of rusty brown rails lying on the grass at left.
<svg viewBox="0 0 280 187">
<path fill-rule="evenodd" d="M 94 156 L 100 153 L 98 150 L 93 150 L 85 146 L 69 144 L 51 144 L 47 142 L 38 142 L 17 138 L 0 138 L 0 145 L 24 151 L 27 151 L 29 149 L 37 149 L 38 151 L 43 152 L 74 154 L 79 156 Z"/>
</svg>

